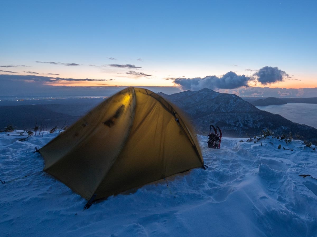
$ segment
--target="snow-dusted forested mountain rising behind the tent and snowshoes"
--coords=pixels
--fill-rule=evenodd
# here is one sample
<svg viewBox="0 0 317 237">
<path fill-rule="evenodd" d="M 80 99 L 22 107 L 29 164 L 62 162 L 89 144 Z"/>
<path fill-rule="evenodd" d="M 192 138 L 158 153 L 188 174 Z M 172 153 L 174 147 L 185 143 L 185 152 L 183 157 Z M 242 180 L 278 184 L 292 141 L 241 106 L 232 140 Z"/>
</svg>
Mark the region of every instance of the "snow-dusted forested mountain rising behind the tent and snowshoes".
<svg viewBox="0 0 317 237">
<path fill-rule="evenodd" d="M 222 94 L 210 89 L 184 91 L 167 95 L 158 93 L 190 117 L 197 132 L 209 133 L 209 125 L 218 125 L 226 137 L 258 135 L 269 128 L 278 134 L 300 134 L 305 139 L 317 139 L 317 129 L 294 123 L 281 115 L 259 110 L 235 94 Z"/>
</svg>

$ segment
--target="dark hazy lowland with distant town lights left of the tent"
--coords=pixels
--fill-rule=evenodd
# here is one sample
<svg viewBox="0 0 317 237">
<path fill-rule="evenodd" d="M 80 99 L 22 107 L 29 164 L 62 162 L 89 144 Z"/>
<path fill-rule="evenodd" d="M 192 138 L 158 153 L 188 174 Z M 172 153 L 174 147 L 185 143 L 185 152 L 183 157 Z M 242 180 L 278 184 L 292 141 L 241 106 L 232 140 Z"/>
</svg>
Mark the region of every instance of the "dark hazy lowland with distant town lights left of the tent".
<svg viewBox="0 0 317 237">
<path fill-rule="evenodd" d="M 57 126 L 61 128 L 65 122 L 73 124 L 77 119 L 91 110 L 104 99 L 61 99 L 61 100 L 25 100 L 19 101 L 21 105 L 16 105 L 15 101 L 0 101 L 10 106 L 0 106 L 0 129 L 3 126 L 13 125 L 15 129 L 31 129 L 35 126 L 47 124 L 47 129 Z M 39 103 L 39 104 L 30 104 Z M 1 103 L 0 103 L 1 105 Z M 36 120 L 35 121 L 35 117 Z"/>
</svg>

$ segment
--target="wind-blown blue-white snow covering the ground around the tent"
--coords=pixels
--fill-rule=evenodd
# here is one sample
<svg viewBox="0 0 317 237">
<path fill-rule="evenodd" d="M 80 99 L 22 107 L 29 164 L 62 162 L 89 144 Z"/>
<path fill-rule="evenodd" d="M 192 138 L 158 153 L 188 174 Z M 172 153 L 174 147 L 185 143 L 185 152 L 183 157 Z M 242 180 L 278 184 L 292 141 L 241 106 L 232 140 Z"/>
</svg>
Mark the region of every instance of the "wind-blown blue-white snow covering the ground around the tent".
<svg viewBox="0 0 317 237">
<path fill-rule="evenodd" d="M 300 141 L 223 138 L 218 150 L 198 136 L 208 169 L 167 178 L 171 193 L 161 180 L 83 211 L 87 201 L 33 153 L 58 133 L 9 134 L 0 133 L 0 236 L 317 236 L 317 180 L 299 176 L 317 178 L 317 153 Z"/>
</svg>

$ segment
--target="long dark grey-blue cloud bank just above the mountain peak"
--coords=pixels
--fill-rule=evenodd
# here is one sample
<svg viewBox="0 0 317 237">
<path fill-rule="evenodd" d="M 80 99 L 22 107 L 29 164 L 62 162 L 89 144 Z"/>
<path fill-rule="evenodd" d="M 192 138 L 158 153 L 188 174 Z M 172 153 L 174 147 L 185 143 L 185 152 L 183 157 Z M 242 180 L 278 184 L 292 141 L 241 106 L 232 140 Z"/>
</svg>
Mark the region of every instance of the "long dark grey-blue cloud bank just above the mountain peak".
<svg viewBox="0 0 317 237">
<path fill-rule="evenodd" d="M 247 87 L 250 80 L 253 80 L 253 78 L 245 75 L 237 75 L 230 71 L 221 77 L 176 78 L 174 82 L 180 85 L 183 90 L 200 90 L 203 88 L 235 89 L 243 86 Z"/>
</svg>

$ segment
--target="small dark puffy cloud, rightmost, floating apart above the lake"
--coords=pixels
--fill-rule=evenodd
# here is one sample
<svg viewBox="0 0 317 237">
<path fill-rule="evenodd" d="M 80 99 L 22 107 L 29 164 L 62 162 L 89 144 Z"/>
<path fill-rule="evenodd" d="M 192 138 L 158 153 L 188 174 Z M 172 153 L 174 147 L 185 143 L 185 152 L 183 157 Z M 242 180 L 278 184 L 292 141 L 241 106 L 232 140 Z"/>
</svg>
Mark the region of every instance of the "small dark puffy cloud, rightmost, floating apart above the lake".
<svg viewBox="0 0 317 237">
<path fill-rule="evenodd" d="M 257 80 L 262 85 L 267 85 L 275 82 L 282 82 L 284 77 L 290 78 L 285 71 L 278 69 L 277 67 L 262 67 L 259 71 L 254 73 Z"/>
</svg>

